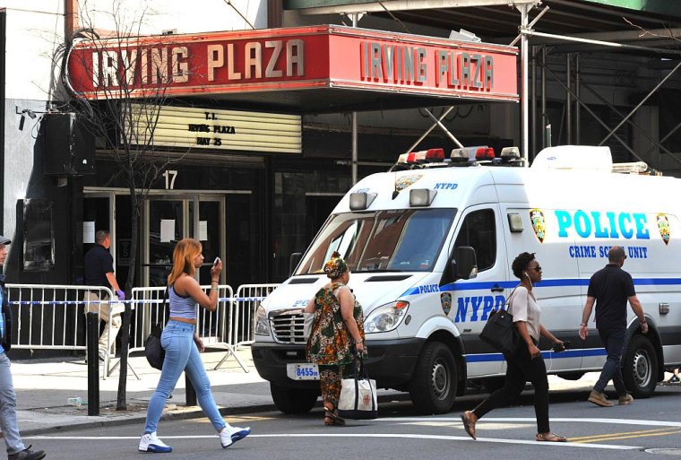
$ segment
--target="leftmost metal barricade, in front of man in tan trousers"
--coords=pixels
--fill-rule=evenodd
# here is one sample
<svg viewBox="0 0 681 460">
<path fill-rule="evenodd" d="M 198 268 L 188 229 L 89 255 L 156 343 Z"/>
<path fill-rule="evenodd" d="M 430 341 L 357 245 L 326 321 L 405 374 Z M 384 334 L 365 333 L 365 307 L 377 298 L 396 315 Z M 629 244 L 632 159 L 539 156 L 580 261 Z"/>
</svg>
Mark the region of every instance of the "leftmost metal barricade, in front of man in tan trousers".
<svg viewBox="0 0 681 460">
<path fill-rule="evenodd" d="M 6 288 L 14 349 L 84 352 L 84 313 L 90 307 L 99 314 L 99 299 L 113 299 L 113 292 L 101 286 L 8 283 Z"/>
</svg>

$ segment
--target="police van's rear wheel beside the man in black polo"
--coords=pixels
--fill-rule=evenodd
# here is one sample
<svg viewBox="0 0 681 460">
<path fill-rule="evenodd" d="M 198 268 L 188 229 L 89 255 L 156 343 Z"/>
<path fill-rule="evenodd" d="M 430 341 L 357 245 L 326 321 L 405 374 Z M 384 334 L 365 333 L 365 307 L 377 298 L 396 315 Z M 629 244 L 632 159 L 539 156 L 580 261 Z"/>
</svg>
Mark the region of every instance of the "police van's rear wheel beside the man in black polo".
<svg viewBox="0 0 681 460">
<path fill-rule="evenodd" d="M 658 355 L 647 337 L 632 337 L 622 363 L 622 377 L 626 389 L 634 397 L 647 398 L 655 392 L 655 386 L 658 385 Z"/>
</svg>

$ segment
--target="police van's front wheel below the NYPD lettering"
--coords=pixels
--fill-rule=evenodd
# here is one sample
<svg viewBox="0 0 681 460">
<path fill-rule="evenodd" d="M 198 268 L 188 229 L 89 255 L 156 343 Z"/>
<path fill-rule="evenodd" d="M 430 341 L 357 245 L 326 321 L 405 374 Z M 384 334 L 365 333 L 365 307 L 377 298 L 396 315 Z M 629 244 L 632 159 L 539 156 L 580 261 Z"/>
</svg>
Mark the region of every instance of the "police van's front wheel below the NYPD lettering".
<svg viewBox="0 0 681 460">
<path fill-rule="evenodd" d="M 411 401 L 419 412 L 448 412 L 454 404 L 457 381 L 452 351 L 444 343 L 428 342 L 409 382 Z"/>
</svg>

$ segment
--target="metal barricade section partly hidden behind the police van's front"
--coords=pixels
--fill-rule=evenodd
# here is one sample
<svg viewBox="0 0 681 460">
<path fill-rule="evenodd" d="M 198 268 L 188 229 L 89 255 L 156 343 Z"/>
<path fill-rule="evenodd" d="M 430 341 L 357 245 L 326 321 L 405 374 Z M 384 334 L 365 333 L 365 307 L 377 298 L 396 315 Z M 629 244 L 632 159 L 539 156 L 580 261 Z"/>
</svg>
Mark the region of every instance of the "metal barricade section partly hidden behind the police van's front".
<svg viewBox="0 0 681 460">
<path fill-rule="evenodd" d="M 229 338 L 228 351 L 222 360 L 215 366 L 215 370 L 228 359 L 234 356 L 241 369 L 248 372 L 248 368 L 237 355 L 237 349 L 244 345 L 254 342 L 254 320 L 255 310 L 260 305 L 261 300 L 267 297 L 270 292 L 279 286 L 278 283 L 270 284 L 242 284 L 237 289 L 237 296 L 231 302 L 231 312 L 229 314 Z"/>
</svg>

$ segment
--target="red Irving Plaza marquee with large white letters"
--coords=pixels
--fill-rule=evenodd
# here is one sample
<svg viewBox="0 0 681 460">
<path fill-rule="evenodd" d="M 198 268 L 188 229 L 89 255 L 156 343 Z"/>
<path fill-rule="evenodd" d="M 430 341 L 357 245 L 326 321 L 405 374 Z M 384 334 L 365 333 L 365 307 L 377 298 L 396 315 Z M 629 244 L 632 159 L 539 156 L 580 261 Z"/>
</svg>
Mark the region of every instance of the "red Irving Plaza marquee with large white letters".
<svg viewBox="0 0 681 460">
<path fill-rule="evenodd" d="M 513 47 L 312 26 L 81 41 L 68 82 L 88 99 L 340 88 L 517 101 Z"/>
</svg>

